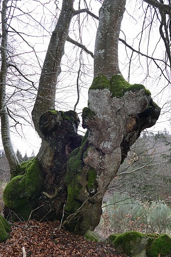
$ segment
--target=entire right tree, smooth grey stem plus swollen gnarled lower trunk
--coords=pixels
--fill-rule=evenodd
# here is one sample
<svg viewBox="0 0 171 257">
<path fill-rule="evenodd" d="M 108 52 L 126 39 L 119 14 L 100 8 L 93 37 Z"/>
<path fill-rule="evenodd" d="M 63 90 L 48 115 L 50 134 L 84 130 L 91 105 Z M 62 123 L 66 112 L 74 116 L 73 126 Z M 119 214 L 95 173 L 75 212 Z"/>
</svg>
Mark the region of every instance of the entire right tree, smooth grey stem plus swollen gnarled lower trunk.
<svg viewBox="0 0 171 257">
<path fill-rule="evenodd" d="M 130 85 L 119 70 L 118 39 L 125 2 L 104 0 L 100 8 L 95 78 L 88 108 L 82 112 L 88 131 L 68 160 L 66 215 L 70 215 L 64 224 L 78 234 L 99 224 L 109 183 L 141 131 L 153 126 L 160 114 L 150 92 L 143 85 Z"/>
</svg>

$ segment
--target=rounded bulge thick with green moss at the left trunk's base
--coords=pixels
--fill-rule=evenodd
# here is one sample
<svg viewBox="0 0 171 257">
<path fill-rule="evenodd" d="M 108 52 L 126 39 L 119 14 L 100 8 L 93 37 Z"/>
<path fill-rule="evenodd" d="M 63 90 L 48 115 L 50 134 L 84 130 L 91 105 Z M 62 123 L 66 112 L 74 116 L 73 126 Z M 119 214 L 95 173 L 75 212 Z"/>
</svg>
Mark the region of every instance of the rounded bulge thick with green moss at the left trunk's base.
<svg viewBox="0 0 171 257">
<path fill-rule="evenodd" d="M 7 183 L 4 189 L 4 203 L 26 220 L 35 208 L 35 198 L 41 192 L 44 180 L 40 175 L 37 158 L 20 164 L 17 170 L 18 173 L 24 174 L 13 177 Z"/>
</svg>

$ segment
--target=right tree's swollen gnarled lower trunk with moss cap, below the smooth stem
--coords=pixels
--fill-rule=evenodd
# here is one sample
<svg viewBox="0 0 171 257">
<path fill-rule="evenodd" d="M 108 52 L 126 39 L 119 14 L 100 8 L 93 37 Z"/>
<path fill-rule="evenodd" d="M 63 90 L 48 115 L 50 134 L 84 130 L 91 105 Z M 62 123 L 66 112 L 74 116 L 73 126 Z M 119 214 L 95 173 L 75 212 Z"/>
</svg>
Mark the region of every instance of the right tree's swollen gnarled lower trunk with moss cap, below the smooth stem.
<svg viewBox="0 0 171 257">
<path fill-rule="evenodd" d="M 99 75 L 93 80 L 89 104 L 82 113 L 86 140 L 68 160 L 66 213 L 75 213 L 86 203 L 68 225 L 73 232 L 83 234 L 97 226 L 109 183 L 130 146 L 159 114 L 160 108 L 143 85 L 130 85 L 121 75 L 111 79 Z"/>
</svg>

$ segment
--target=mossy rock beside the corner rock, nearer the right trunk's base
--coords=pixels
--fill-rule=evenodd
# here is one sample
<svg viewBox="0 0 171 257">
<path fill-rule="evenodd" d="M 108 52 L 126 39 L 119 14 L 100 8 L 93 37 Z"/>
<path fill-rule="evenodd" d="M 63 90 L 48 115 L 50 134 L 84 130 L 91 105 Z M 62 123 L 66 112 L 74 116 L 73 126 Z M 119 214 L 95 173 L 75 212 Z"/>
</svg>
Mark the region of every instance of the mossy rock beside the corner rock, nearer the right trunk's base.
<svg viewBox="0 0 171 257">
<path fill-rule="evenodd" d="M 119 235 L 114 234 L 114 241 L 112 237 L 110 239 L 118 252 L 134 257 L 145 256 L 146 248 L 151 240 L 137 231 L 125 232 Z"/>
</svg>

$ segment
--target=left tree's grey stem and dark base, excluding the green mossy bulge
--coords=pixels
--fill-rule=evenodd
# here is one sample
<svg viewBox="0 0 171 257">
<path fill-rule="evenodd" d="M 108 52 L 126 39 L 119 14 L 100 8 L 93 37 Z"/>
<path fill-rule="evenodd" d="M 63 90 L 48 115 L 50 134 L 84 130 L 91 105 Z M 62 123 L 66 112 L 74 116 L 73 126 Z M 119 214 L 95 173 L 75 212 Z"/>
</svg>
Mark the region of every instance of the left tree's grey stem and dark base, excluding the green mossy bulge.
<svg viewBox="0 0 171 257">
<path fill-rule="evenodd" d="M 35 213 L 37 218 L 42 218 L 44 215 L 49 219 L 61 218 L 67 197 L 64 183 L 67 158 L 81 140 L 77 135 L 79 119 L 75 112 L 50 111 L 55 110 L 56 83 L 73 13 L 73 0 L 64 0 L 51 36 L 32 111 L 35 130 L 42 139 L 37 160 L 45 179 L 42 188 L 44 193 L 38 203 L 44 207 Z M 53 195 L 54 192 L 57 192 L 58 198 L 50 200 L 47 195 Z"/>
</svg>

